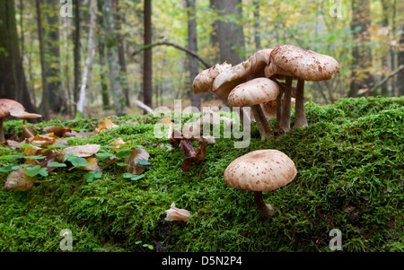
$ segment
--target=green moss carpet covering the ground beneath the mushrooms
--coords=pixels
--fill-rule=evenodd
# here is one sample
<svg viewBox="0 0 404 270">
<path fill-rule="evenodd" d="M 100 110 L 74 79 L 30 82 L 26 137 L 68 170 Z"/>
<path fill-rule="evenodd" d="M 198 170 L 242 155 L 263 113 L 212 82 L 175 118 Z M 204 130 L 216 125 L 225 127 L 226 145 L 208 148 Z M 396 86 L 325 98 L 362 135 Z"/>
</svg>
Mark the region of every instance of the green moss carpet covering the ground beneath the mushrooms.
<svg viewBox="0 0 404 270">
<path fill-rule="evenodd" d="M 101 145 L 94 155 L 101 174 L 58 161 L 66 167 L 39 171 L 29 190 L 0 191 L 0 251 L 60 251 L 66 229 L 76 252 L 329 251 L 333 229 L 341 232 L 342 251 L 404 251 L 404 97 L 307 102 L 305 109 L 309 126 L 266 141 L 253 126 L 247 148 L 234 148 L 233 137 L 216 138 L 189 171 L 181 170 L 180 148 L 154 135 L 161 119 L 153 115 L 110 117 L 114 128 L 66 137 L 68 146 Z M 91 133 L 100 120 L 30 126 L 34 135 L 47 126 Z M 4 132 L 21 135 L 22 121 L 5 122 Z M 119 137 L 150 155 L 138 178 L 111 162 L 119 151 L 109 144 Z M 257 211 L 251 192 L 224 183 L 230 162 L 258 149 L 285 152 L 298 171 L 287 186 L 263 193 L 275 209 L 270 219 Z M 0 186 L 11 173 L 6 168 L 27 160 L 22 150 L 0 146 Z M 164 220 L 172 203 L 191 213 L 187 222 Z"/>
</svg>

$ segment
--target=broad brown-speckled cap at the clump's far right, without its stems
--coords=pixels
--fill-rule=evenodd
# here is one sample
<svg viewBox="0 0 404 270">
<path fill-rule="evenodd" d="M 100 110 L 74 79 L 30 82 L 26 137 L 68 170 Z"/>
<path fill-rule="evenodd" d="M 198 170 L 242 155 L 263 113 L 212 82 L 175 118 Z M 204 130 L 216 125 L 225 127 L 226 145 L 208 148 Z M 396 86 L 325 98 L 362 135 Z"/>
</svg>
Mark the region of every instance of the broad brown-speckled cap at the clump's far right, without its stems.
<svg viewBox="0 0 404 270">
<path fill-rule="evenodd" d="M 293 45 L 274 48 L 270 55 L 270 62 L 304 81 L 329 80 L 333 74 L 339 73 L 338 62 L 333 57 Z"/>
</svg>

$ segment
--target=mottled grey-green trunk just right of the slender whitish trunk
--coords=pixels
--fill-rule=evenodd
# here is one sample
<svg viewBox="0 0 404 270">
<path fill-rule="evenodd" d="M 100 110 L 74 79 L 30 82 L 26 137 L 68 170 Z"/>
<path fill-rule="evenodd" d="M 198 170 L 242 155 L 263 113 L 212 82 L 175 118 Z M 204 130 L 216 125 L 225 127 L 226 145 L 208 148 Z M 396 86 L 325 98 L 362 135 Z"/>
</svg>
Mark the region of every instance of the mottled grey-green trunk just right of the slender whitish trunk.
<svg viewBox="0 0 404 270">
<path fill-rule="evenodd" d="M 110 91 L 113 99 L 113 108 L 115 114 L 121 117 L 126 114 L 126 100 L 121 83 L 117 37 L 112 13 L 112 0 L 102 1 L 102 15 L 102 27 L 105 34 L 108 66 L 110 69 Z"/>
</svg>

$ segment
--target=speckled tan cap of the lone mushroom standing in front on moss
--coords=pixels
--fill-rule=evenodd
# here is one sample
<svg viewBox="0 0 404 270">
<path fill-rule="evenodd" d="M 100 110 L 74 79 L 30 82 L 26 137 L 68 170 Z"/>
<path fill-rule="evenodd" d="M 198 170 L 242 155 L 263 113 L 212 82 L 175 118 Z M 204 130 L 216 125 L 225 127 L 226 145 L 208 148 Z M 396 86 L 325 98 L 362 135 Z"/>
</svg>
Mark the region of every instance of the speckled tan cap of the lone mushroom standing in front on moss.
<svg viewBox="0 0 404 270">
<path fill-rule="evenodd" d="M 275 149 L 256 150 L 235 159 L 224 170 L 224 183 L 250 191 L 284 187 L 297 174 L 294 161 Z"/>
</svg>

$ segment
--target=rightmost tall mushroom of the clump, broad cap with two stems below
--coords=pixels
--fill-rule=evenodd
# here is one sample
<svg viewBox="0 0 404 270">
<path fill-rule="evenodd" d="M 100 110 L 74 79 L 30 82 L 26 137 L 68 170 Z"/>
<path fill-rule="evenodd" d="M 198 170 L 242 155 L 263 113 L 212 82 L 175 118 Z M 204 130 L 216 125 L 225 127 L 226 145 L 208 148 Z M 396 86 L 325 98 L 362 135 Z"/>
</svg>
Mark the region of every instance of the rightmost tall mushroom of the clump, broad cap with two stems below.
<svg viewBox="0 0 404 270">
<path fill-rule="evenodd" d="M 268 78 L 274 76 L 285 77 L 285 105 L 282 113 L 281 128 L 284 131 L 290 128 L 290 118 L 287 118 L 288 110 L 290 110 L 288 96 L 290 95 L 293 80 L 297 80 L 294 126 L 307 126 L 303 104 L 304 81 L 330 80 L 333 74 L 339 73 L 340 68 L 337 60 L 293 45 L 281 45 L 274 48 L 269 58 L 270 63 L 266 67 L 265 75 Z"/>
</svg>

